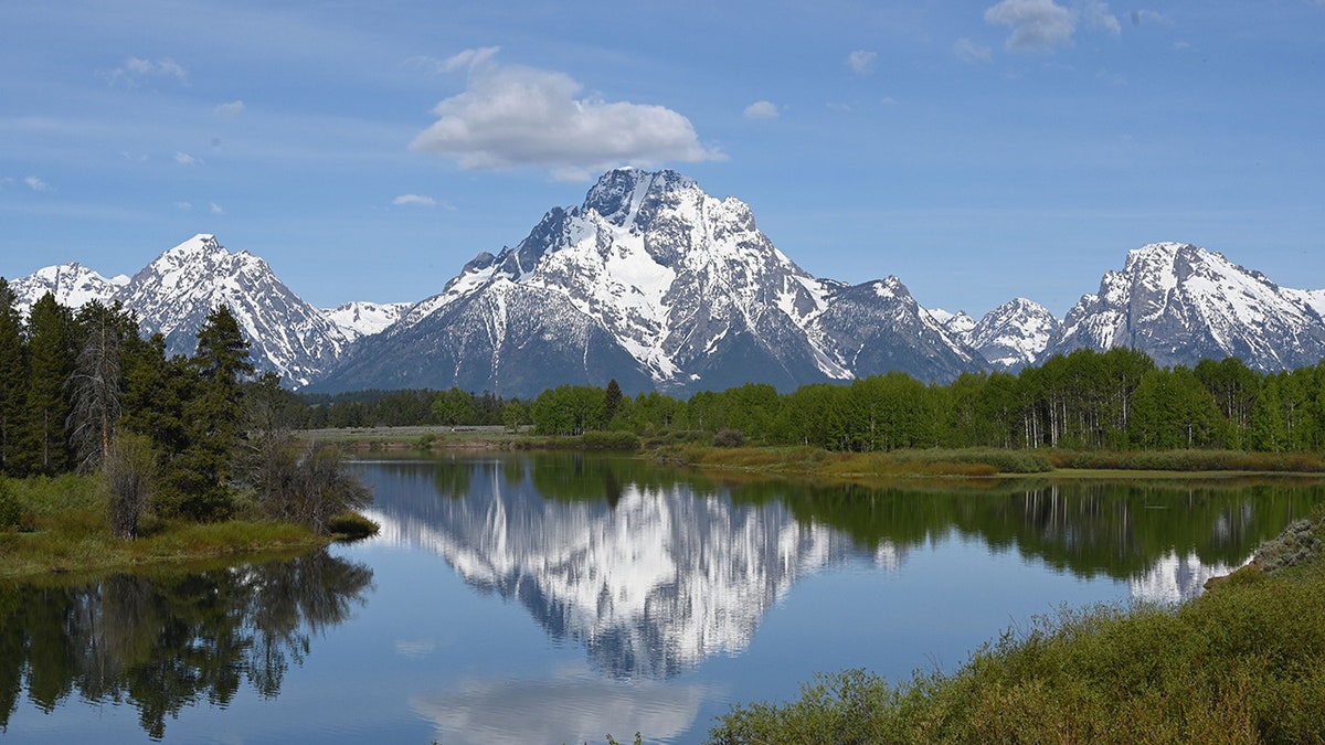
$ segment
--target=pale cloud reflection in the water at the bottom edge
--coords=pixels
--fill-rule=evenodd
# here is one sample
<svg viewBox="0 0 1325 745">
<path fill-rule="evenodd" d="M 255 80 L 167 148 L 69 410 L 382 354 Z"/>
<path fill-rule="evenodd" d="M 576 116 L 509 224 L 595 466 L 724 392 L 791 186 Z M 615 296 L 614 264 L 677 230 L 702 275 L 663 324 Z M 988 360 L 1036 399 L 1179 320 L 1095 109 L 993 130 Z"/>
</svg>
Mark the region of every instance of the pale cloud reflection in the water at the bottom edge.
<svg viewBox="0 0 1325 745">
<path fill-rule="evenodd" d="M 439 742 L 559 745 L 625 742 L 636 732 L 649 740 L 681 734 L 708 695 L 704 685 L 619 683 L 582 676 L 550 680 L 480 680 L 409 705 L 437 724 Z"/>
</svg>

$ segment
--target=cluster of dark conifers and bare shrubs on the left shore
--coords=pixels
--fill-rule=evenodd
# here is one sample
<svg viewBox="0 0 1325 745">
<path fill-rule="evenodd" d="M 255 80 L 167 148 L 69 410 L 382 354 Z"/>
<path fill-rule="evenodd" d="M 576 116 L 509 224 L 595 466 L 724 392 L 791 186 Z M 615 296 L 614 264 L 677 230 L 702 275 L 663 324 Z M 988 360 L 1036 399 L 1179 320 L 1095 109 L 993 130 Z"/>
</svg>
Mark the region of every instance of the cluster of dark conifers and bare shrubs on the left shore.
<svg viewBox="0 0 1325 745">
<path fill-rule="evenodd" d="M 297 447 L 297 399 L 274 375 L 253 374 L 224 305 L 192 357 L 167 355 L 163 337 L 142 338 L 118 302 L 74 312 L 48 293 L 23 318 L 0 278 L 0 476 L 103 472 L 123 537 L 148 513 L 217 520 L 244 500 L 325 530 L 368 494 L 335 453 Z"/>
</svg>

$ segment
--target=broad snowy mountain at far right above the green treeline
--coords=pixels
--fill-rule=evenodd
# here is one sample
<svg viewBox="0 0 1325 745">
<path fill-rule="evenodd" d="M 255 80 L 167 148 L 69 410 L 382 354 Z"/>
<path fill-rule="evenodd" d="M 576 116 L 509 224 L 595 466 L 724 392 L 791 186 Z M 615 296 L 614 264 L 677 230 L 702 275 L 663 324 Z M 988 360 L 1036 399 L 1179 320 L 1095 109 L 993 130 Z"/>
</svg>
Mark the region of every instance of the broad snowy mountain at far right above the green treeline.
<svg viewBox="0 0 1325 745">
<path fill-rule="evenodd" d="M 1260 272 L 1190 244 L 1157 243 L 1128 253 L 1097 294 L 1081 297 L 1051 354 L 1132 347 L 1161 366 L 1238 357 L 1263 371 L 1325 358 L 1325 321 L 1313 298 Z"/>
</svg>

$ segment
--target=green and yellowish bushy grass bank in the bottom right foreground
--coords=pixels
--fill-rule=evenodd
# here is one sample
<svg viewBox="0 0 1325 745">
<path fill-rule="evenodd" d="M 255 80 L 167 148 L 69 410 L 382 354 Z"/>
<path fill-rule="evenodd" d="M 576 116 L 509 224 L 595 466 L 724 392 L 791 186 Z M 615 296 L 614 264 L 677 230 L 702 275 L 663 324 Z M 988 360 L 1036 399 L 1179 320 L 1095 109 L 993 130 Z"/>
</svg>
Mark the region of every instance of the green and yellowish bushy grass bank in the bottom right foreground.
<svg viewBox="0 0 1325 745">
<path fill-rule="evenodd" d="M 900 685 L 863 671 L 823 676 L 795 701 L 733 709 L 710 740 L 1322 742 L 1325 562 L 1298 547 L 1325 529 L 1317 516 L 1293 530 L 1296 563 L 1263 551 L 1177 608 L 1064 610 L 1004 634 L 951 675 Z"/>
</svg>

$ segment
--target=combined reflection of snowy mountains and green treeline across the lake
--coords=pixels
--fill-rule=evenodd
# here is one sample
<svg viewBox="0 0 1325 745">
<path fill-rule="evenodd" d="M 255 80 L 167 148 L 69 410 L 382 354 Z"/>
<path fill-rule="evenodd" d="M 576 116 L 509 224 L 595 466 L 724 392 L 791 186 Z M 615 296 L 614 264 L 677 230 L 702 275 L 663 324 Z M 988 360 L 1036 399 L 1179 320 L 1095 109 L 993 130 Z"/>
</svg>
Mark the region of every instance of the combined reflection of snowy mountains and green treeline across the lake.
<svg viewBox="0 0 1325 745">
<path fill-rule="evenodd" d="M 896 570 L 953 533 L 1126 581 L 1140 597 L 1187 598 L 1320 500 L 1284 487 L 723 483 L 576 455 L 392 464 L 366 479 L 384 540 L 427 546 L 473 586 L 518 598 L 621 677 L 739 651 L 798 578 L 847 557 Z"/>
</svg>

